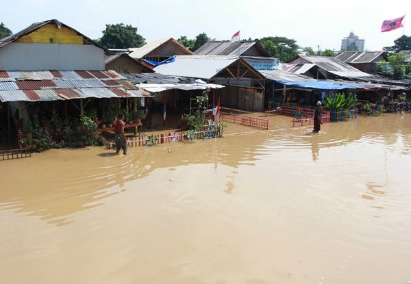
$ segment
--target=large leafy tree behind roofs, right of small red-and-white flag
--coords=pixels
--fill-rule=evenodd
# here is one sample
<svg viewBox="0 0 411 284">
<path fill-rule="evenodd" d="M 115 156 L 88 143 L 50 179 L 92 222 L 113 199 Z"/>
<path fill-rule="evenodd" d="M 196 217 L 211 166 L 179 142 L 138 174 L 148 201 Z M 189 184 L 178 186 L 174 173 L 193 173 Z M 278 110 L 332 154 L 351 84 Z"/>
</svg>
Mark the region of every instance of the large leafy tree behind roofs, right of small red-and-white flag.
<svg viewBox="0 0 411 284">
<path fill-rule="evenodd" d="M 287 62 L 298 55 L 298 45 L 295 40 L 280 36 L 269 36 L 261 38 L 260 42 L 267 49 L 272 57 L 278 58 L 281 61 Z M 271 42 L 272 44 L 269 44 Z"/>
</svg>

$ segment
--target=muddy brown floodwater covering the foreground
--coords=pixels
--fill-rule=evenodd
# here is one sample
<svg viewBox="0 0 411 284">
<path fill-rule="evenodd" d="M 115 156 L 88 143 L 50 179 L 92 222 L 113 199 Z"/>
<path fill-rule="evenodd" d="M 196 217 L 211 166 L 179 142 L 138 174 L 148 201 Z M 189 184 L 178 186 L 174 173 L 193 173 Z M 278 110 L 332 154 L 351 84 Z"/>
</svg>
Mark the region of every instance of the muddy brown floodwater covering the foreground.
<svg viewBox="0 0 411 284">
<path fill-rule="evenodd" d="M 269 119 L 0 161 L 1 283 L 411 283 L 411 114 Z"/>
</svg>

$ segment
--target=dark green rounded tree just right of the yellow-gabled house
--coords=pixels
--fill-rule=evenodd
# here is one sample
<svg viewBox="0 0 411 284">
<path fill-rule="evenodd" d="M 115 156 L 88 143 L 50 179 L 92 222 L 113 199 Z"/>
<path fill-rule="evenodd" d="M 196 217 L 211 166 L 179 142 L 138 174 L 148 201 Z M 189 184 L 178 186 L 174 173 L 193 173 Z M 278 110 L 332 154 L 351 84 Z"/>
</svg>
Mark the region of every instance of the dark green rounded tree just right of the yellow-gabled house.
<svg viewBox="0 0 411 284">
<path fill-rule="evenodd" d="M 142 47 L 145 38 L 137 34 L 137 28 L 131 25 L 116 24 L 105 25 L 103 36 L 97 40 L 99 44 L 108 49 L 128 49 L 129 47 Z"/>
</svg>

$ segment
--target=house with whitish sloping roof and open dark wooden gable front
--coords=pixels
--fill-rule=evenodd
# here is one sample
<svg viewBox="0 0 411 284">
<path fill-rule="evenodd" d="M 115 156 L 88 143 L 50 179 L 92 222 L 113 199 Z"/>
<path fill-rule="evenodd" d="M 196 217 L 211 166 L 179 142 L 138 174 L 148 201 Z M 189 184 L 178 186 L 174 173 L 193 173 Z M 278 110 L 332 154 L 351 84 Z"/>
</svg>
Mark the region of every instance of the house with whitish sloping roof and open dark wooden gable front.
<svg viewBox="0 0 411 284">
<path fill-rule="evenodd" d="M 194 77 L 225 86 L 216 98 L 221 106 L 248 111 L 264 110 L 264 76 L 236 56 L 177 55 L 175 61 L 154 68 L 156 73 Z"/>
</svg>

